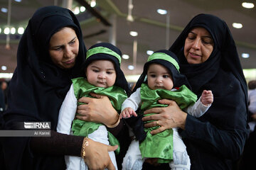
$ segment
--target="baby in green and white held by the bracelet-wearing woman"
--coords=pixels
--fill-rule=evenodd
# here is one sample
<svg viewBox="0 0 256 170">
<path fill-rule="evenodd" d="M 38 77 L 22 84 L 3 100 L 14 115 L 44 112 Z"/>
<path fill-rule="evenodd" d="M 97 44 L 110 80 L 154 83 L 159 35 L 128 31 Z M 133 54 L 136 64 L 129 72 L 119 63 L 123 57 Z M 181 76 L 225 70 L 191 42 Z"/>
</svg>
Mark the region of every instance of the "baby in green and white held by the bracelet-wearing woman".
<svg viewBox="0 0 256 170">
<path fill-rule="evenodd" d="M 107 42 L 90 47 L 82 67 L 85 77 L 72 79 L 73 84 L 60 108 L 58 132 L 89 137 L 105 145 L 119 145 L 114 135 L 108 132 L 102 123 L 92 123 L 74 118 L 77 106 L 81 104 L 78 103 L 78 98 L 92 97 L 90 93 L 108 96 L 117 112 L 121 111 L 121 105 L 129 94 L 127 80 L 120 69 L 121 56 L 121 51 Z M 117 169 L 114 152 L 109 152 L 109 154 L 115 169 Z M 88 169 L 81 157 L 65 156 L 65 162 L 67 169 Z"/>
</svg>

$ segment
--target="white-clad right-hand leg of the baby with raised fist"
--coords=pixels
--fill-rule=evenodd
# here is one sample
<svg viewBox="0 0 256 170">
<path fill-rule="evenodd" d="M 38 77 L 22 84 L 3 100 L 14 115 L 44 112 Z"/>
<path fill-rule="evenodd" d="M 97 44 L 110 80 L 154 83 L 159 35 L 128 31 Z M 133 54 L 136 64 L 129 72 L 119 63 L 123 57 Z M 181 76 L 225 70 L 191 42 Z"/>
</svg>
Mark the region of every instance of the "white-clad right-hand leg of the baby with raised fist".
<svg viewBox="0 0 256 170">
<path fill-rule="evenodd" d="M 188 152 L 186 152 L 186 146 L 181 140 L 181 136 L 178 135 L 178 130 L 174 130 L 174 160 L 169 163 L 171 169 L 176 170 L 189 170 L 191 167 L 191 162 L 188 157 Z"/>
</svg>

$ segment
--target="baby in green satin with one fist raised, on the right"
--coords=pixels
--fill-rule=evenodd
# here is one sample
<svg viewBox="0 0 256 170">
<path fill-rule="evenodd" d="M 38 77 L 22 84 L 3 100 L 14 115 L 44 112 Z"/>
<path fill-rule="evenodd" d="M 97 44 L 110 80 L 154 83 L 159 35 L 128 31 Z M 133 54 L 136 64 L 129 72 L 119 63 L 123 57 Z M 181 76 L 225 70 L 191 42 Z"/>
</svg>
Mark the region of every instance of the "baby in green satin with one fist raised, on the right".
<svg viewBox="0 0 256 170">
<path fill-rule="evenodd" d="M 122 104 L 120 117 L 137 116 L 135 111 L 139 107 L 139 114 L 149 108 L 166 107 L 157 102 L 162 98 L 176 101 L 181 109 L 197 118 L 206 113 L 213 103 L 212 92 L 204 90 L 196 101 L 196 94 L 188 89 L 188 81 L 178 69 L 178 58 L 169 50 L 159 50 L 149 56 L 148 62 L 144 64 L 144 72 L 134 88 L 136 91 Z M 148 158 L 157 159 L 158 163 L 169 163 L 171 169 L 190 169 L 186 146 L 177 129 L 151 135 L 150 131 L 156 128 L 159 126 L 145 129 L 146 138 L 142 142 L 132 141 L 122 169 L 142 169 L 144 160 Z"/>
</svg>

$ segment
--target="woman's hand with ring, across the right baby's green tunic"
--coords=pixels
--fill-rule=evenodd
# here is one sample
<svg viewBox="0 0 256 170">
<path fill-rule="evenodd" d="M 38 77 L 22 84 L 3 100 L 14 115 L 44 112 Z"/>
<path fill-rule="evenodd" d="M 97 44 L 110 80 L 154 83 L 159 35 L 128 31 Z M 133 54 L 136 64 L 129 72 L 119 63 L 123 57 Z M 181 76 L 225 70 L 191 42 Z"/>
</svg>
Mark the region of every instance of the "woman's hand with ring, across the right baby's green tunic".
<svg viewBox="0 0 256 170">
<path fill-rule="evenodd" d="M 150 132 L 152 135 L 171 128 L 185 129 L 187 113 L 181 111 L 175 101 L 162 99 L 159 100 L 159 103 L 167 104 L 169 106 L 165 108 L 151 108 L 147 111 L 144 111 L 144 114 L 158 113 L 154 115 L 144 116 L 144 118 L 142 118 L 144 122 L 149 120 L 155 120 L 151 123 L 146 123 L 144 127 L 151 128 L 154 126 L 160 126 L 160 128 L 152 130 Z"/>
</svg>

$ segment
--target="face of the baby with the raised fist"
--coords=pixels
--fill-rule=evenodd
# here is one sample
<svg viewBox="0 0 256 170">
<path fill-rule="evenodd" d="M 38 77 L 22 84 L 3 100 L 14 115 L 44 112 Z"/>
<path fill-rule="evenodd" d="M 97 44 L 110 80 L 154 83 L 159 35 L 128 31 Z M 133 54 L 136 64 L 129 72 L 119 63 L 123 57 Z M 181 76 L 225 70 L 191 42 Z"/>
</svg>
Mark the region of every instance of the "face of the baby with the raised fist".
<svg viewBox="0 0 256 170">
<path fill-rule="evenodd" d="M 174 81 L 168 69 L 160 64 L 150 64 L 147 71 L 148 86 L 150 89 L 171 90 L 174 87 Z"/>
</svg>

